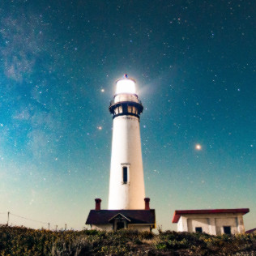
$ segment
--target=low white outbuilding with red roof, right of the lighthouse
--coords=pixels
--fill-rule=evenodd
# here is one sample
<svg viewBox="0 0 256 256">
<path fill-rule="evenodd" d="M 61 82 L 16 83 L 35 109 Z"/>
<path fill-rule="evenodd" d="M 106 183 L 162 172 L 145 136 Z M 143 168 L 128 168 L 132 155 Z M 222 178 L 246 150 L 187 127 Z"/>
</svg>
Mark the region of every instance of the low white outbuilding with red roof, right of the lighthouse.
<svg viewBox="0 0 256 256">
<path fill-rule="evenodd" d="M 248 208 L 177 210 L 173 215 L 173 223 L 177 223 L 178 232 L 210 235 L 245 233 L 243 215 L 249 211 Z"/>
</svg>

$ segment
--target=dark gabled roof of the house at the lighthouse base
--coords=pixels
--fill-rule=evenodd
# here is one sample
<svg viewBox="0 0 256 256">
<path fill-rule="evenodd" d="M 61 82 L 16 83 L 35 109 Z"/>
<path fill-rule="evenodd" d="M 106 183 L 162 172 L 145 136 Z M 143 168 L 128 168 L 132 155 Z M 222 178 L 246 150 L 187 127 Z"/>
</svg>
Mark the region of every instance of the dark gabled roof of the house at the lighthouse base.
<svg viewBox="0 0 256 256">
<path fill-rule="evenodd" d="M 130 224 L 155 224 L 155 210 L 91 210 L 85 224 L 109 224 L 113 217 L 121 214 Z"/>
</svg>

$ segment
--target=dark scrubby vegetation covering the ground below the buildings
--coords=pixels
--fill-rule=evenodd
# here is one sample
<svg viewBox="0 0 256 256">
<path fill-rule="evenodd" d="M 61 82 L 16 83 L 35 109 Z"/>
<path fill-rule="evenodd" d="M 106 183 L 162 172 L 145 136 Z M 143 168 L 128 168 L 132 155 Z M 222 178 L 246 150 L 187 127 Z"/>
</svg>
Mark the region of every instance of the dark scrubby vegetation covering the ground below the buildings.
<svg viewBox="0 0 256 256">
<path fill-rule="evenodd" d="M 0 226 L 0 255 L 256 255 L 256 234 L 49 231 Z"/>
</svg>

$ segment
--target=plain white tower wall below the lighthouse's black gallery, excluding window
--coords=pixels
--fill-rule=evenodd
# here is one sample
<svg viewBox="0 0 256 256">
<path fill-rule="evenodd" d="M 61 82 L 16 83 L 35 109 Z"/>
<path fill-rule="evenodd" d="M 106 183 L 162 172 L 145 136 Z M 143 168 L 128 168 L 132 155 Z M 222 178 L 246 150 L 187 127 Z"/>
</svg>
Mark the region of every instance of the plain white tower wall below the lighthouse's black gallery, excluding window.
<svg viewBox="0 0 256 256">
<path fill-rule="evenodd" d="M 126 184 L 123 184 L 122 177 L 124 166 L 128 170 Z M 144 198 L 139 119 L 132 116 L 115 117 L 113 120 L 109 210 L 143 209 Z"/>
</svg>

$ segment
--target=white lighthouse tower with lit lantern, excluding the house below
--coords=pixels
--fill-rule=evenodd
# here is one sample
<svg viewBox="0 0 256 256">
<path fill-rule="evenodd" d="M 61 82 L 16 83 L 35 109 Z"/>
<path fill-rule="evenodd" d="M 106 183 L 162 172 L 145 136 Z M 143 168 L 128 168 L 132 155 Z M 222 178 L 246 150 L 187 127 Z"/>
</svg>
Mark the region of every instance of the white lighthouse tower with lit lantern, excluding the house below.
<svg viewBox="0 0 256 256">
<path fill-rule="evenodd" d="M 134 79 L 117 80 L 109 107 L 113 114 L 113 139 L 109 182 L 109 210 L 144 209 L 145 187 L 139 115 L 143 105 Z"/>
</svg>

